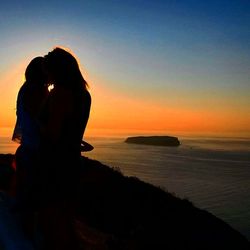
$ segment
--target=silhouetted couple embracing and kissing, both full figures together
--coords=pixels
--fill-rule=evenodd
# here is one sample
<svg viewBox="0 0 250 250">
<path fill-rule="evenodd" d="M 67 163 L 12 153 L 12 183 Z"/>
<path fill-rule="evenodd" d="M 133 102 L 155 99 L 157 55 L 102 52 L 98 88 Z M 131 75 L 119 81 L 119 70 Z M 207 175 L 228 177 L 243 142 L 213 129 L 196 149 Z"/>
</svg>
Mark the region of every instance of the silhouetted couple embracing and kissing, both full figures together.
<svg viewBox="0 0 250 250">
<path fill-rule="evenodd" d="M 27 233 L 34 232 L 37 212 L 44 249 L 75 249 L 72 214 L 91 106 L 88 85 L 75 57 L 62 48 L 34 58 L 25 78 L 13 134 L 20 143 L 16 151 L 18 209 Z"/>
</svg>

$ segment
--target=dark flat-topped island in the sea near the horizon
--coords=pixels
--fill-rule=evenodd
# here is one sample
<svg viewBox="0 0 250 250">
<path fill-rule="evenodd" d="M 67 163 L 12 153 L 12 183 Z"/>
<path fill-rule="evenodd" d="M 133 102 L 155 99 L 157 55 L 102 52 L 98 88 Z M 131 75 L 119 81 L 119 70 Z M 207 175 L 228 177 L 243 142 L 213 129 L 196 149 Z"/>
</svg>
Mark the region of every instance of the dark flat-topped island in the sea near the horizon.
<svg viewBox="0 0 250 250">
<path fill-rule="evenodd" d="M 180 145 L 179 139 L 174 136 L 135 136 L 128 137 L 125 142 L 167 147 L 177 147 Z"/>
</svg>

